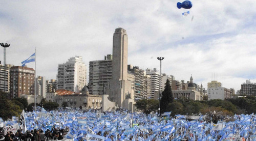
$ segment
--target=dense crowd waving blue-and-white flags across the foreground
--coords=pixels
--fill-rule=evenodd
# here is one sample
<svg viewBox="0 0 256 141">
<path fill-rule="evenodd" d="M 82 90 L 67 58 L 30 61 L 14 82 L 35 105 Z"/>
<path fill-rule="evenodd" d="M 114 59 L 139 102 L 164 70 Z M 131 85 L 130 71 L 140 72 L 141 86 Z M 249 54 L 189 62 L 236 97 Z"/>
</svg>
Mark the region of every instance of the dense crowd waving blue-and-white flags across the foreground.
<svg viewBox="0 0 256 141">
<path fill-rule="evenodd" d="M 203 118 L 188 121 L 182 115 L 160 118 L 157 114 L 132 113 L 125 109 L 116 111 L 59 109 L 45 112 L 27 112 L 27 131 L 7 132 L 7 141 L 42 141 L 74 139 L 87 140 L 88 134 L 112 140 L 233 140 L 256 138 L 254 115 L 234 115 L 231 122 L 218 124 Z M 53 117 L 47 117 L 47 114 Z M 39 117 L 41 115 L 41 117 Z M 98 117 L 100 115 L 100 117 Z M 51 126 L 50 126 L 51 125 Z M 56 127 L 55 127 L 56 125 Z M 49 129 L 48 126 L 51 128 Z M 1 137 L 0 137 L 1 138 Z M 2 138 L 2 140 L 3 140 Z M 1 139 L 0 139 L 1 140 Z"/>
</svg>

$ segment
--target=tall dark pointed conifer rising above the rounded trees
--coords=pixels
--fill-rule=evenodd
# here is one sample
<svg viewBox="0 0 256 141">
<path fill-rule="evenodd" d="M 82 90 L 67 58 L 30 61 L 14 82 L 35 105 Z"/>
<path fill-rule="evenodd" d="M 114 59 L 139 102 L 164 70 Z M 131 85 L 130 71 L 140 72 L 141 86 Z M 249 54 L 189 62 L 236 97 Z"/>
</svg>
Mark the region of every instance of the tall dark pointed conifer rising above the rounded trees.
<svg viewBox="0 0 256 141">
<path fill-rule="evenodd" d="M 170 81 L 167 79 L 164 87 L 164 91 L 162 92 L 162 96 L 160 99 L 161 113 L 166 110 L 166 107 L 169 103 L 174 101 L 172 88 L 170 88 Z"/>
</svg>

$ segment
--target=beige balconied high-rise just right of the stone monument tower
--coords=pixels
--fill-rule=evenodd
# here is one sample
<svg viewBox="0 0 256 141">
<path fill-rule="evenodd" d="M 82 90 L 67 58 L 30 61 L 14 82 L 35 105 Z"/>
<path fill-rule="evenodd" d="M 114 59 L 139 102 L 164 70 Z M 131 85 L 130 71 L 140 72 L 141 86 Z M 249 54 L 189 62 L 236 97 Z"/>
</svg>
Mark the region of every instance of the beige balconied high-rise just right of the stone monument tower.
<svg viewBox="0 0 256 141">
<path fill-rule="evenodd" d="M 134 99 L 138 101 L 145 98 L 144 96 L 144 70 L 137 66 L 128 65 L 128 70 L 135 76 Z"/>
</svg>

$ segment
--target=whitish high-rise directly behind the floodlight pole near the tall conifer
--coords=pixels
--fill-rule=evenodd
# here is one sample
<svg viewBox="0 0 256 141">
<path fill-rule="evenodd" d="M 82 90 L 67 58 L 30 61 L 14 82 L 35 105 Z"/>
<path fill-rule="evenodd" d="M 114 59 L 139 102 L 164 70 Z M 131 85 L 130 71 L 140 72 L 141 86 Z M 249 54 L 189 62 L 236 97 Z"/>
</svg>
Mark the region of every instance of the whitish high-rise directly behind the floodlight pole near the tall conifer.
<svg viewBox="0 0 256 141">
<path fill-rule="evenodd" d="M 160 79 L 159 79 L 159 75 L 160 73 L 157 71 L 156 68 L 152 69 L 146 69 L 146 75 L 150 75 L 151 76 L 151 98 L 155 98 L 155 94 L 159 95 L 159 83 L 160 83 Z M 163 85 L 163 76 L 161 75 L 161 92 L 164 89 L 164 85 Z"/>
</svg>

